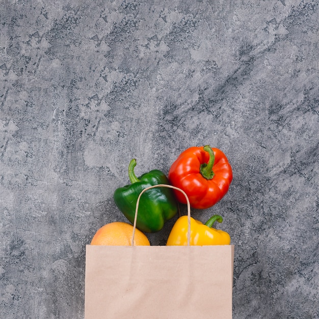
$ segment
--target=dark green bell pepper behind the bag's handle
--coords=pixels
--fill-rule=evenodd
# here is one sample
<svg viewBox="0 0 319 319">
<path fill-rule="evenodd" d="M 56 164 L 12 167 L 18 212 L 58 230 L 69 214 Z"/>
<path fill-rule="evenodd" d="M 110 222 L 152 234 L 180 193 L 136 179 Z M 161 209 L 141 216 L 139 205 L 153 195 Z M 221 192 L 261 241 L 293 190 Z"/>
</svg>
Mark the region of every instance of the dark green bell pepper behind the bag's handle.
<svg viewBox="0 0 319 319">
<path fill-rule="evenodd" d="M 128 176 L 131 184 L 118 188 L 114 192 L 114 202 L 125 217 L 133 224 L 137 199 L 147 187 L 158 184 L 169 184 L 166 175 L 159 170 L 152 170 L 139 178 L 134 173 L 136 159 L 128 166 Z M 178 211 L 174 193 L 169 188 L 153 188 L 142 194 L 136 227 L 144 232 L 161 230 L 164 223 L 174 217 Z"/>
</svg>

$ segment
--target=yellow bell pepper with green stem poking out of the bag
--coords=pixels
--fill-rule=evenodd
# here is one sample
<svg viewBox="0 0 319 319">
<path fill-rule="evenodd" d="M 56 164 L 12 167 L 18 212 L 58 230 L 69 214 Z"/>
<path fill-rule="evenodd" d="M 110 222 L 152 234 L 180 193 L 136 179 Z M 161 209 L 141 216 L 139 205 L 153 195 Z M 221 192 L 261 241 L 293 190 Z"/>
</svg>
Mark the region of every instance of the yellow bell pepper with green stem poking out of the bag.
<svg viewBox="0 0 319 319">
<path fill-rule="evenodd" d="M 229 245 L 230 236 L 227 232 L 211 228 L 214 222 L 221 223 L 223 218 L 219 215 L 212 216 L 205 224 L 191 217 L 190 245 Z M 185 246 L 188 244 L 188 217 L 182 216 L 175 222 L 168 237 L 166 246 Z"/>
</svg>

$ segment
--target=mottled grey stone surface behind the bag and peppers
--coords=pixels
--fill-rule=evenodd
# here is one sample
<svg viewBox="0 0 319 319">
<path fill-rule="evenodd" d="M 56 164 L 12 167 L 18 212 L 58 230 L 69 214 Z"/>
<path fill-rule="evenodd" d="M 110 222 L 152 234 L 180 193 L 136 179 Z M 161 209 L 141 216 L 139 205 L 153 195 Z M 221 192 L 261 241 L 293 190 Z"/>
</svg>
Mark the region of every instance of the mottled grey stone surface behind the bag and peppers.
<svg viewBox="0 0 319 319">
<path fill-rule="evenodd" d="M 204 144 L 233 168 L 227 195 L 193 211 L 231 234 L 233 317 L 319 317 L 317 0 L 0 0 L 0 14 L 1 318 L 83 318 L 85 246 L 126 221 L 113 193 L 130 159 L 168 173 Z"/>
</svg>

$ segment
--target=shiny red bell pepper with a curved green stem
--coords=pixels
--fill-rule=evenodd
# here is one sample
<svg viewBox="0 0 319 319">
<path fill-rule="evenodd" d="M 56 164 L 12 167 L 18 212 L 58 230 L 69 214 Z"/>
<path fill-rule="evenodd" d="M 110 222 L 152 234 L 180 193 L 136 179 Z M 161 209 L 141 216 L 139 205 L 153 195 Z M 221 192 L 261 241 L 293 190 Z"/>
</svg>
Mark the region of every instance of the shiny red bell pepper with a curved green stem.
<svg viewBox="0 0 319 319">
<path fill-rule="evenodd" d="M 190 147 L 172 164 L 168 179 L 187 194 L 193 208 L 205 209 L 215 205 L 228 192 L 232 169 L 226 155 L 218 148 Z M 179 202 L 186 203 L 180 192 L 174 193 Z"/>
</svg>

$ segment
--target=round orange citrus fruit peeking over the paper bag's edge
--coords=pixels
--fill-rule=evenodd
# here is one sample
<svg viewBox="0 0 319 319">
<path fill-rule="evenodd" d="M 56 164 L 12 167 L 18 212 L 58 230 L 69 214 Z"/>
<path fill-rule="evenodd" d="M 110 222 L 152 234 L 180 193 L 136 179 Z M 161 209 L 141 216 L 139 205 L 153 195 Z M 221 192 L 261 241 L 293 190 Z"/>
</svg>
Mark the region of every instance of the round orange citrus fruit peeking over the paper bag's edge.
<svg viewBox="0 0 319 319">
<path fill-rule="evenodd" d="M 97 230 L 92 238 L 91 245 L 130 246 L 133 235 L 133 226 L 123 222 L 106 224 Z M 148 238 L 139 229 L 135 229 L 135 246 L 150 246 Z"/>
</svg>

